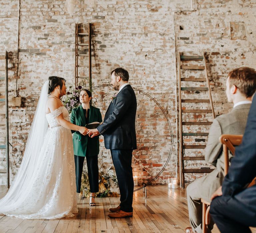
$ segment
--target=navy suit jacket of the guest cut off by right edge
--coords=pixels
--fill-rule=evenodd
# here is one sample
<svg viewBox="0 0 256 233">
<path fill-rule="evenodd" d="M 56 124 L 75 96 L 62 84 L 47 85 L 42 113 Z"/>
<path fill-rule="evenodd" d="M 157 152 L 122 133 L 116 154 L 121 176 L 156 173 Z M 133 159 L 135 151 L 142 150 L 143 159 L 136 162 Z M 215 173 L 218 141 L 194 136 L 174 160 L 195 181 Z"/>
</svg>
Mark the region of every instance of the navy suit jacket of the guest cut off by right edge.
<svg viewBox="0 0 256 233">
<path fill-rule="evenodd" d="M 241 201 L 256 211 L 256 185 L 244 187 L 256 176 L 256 98 L 254 96 L 241 145 L 236 147 L 228 174 L 222 185 L 223 196 L 241 192 Z"/>
</svg>

